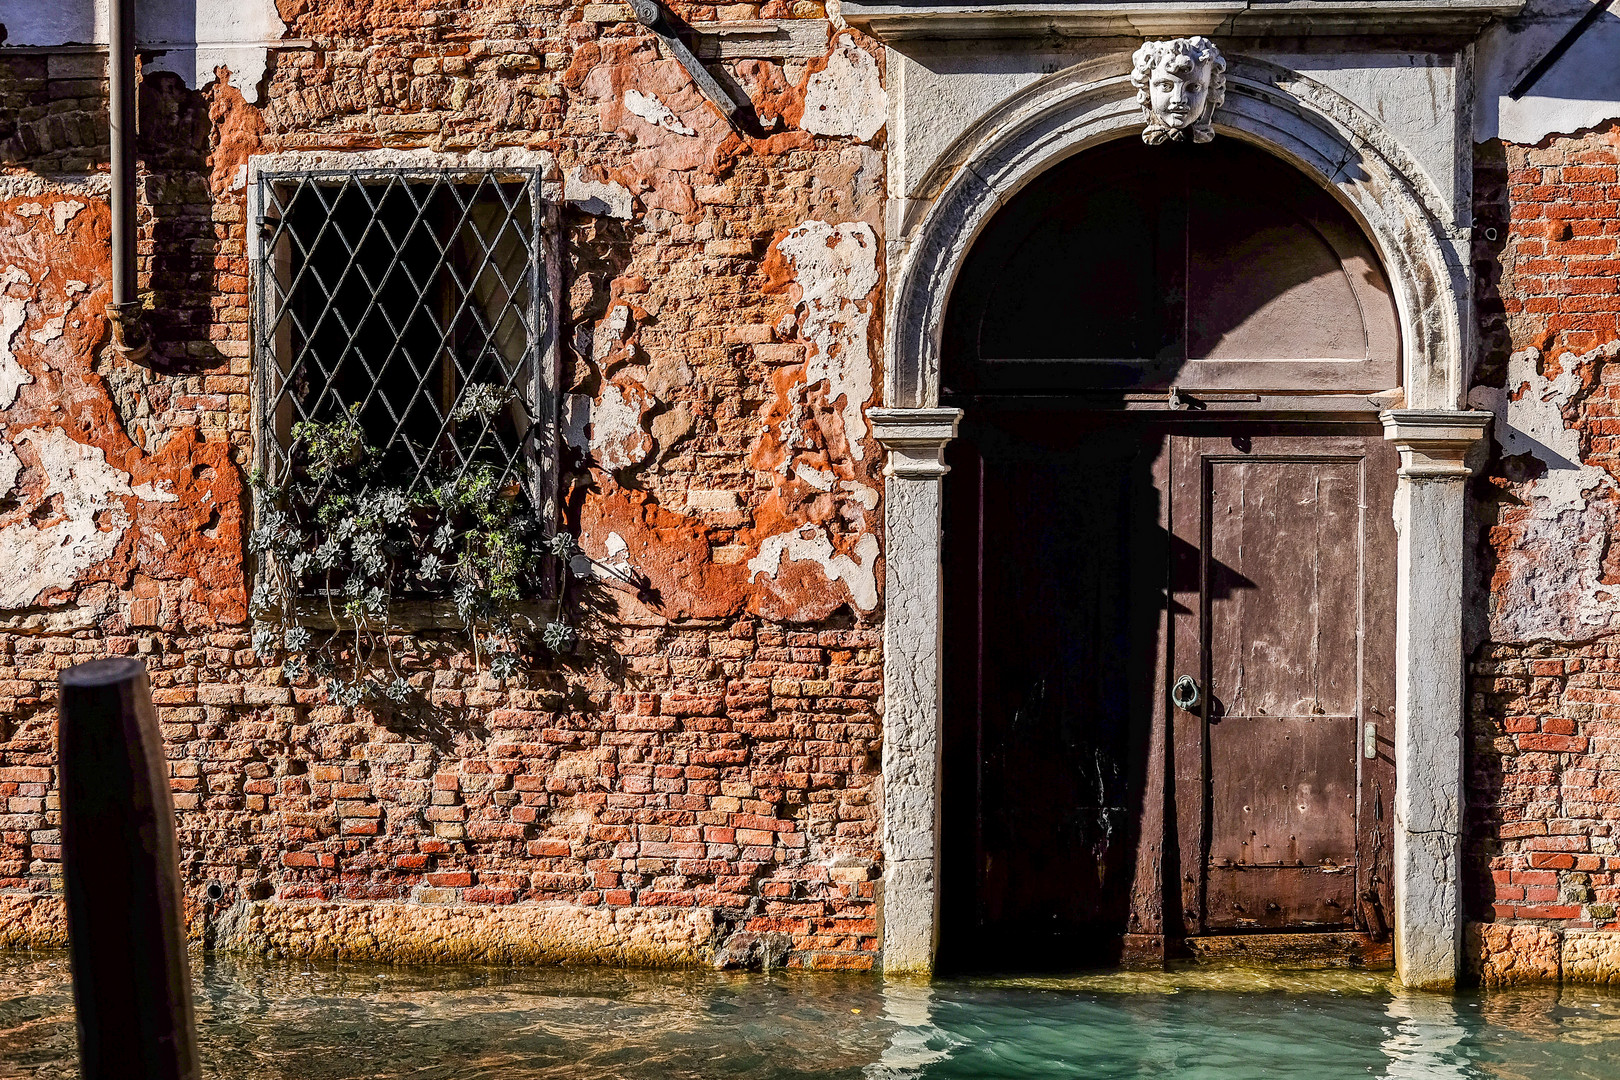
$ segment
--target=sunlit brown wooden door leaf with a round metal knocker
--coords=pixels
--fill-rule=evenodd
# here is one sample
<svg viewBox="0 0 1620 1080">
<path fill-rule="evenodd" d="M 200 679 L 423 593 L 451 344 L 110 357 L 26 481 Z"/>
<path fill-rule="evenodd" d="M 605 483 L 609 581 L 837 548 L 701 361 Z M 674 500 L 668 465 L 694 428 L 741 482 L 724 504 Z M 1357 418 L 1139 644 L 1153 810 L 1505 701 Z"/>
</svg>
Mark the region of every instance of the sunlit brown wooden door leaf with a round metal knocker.
<svg viewBox="0 0 1620 1080">
<path fill-rule="evenodd" d="M 1380 933 L 1395 453 L 1380 432 L 1176 436 L 1171 474 L 1196 557 L 1168 680 L 1200 698 L 1173 712 L 1186 929 Z"/>
</svg>

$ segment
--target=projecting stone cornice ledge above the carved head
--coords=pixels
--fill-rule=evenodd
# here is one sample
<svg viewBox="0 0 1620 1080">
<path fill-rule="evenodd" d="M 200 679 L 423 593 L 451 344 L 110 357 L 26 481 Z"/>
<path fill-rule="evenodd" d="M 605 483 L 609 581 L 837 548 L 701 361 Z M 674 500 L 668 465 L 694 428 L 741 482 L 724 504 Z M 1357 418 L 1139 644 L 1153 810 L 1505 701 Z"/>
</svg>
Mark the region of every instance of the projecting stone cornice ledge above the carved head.
<svg viewBox="0 0 1620 1080">
<path fill-rule="evenodd" d="M 953 37 L 1374 37 L 1471 39 L 1526 0 L 1136 0 L 1006 3 L 844 0 L 844 18 L 885 40 Z"/>
</svg>

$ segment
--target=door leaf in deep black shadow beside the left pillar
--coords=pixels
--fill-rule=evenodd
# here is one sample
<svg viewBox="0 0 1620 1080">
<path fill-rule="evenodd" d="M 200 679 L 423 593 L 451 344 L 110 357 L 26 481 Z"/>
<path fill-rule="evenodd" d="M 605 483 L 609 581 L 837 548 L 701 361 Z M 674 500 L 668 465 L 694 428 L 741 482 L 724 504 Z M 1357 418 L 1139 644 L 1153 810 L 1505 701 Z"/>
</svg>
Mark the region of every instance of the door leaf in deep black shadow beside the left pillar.
<svg viewBox="0 0 1620 1080">
<path fill-rule="evenodd" d="M 1163 722 L 1162 432 L 980 410 L 946 484 L 943 962 L 1111 962 Z M 1155 712 L 1157 711 L 1157 712 Z"/>
</svg>

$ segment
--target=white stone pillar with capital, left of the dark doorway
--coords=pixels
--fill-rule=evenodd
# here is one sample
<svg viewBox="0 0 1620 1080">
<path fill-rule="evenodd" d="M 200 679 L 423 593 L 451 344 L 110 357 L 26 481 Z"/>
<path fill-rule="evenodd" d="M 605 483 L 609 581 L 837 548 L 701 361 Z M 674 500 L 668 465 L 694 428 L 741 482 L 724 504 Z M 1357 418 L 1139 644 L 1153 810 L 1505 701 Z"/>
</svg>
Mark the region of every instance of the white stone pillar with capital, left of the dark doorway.
<svg viewBox="0 0 1620 1080">
<path fill-rule="evenodd" d="M 940 716 L 944 597 L 940 494 L 954 408 L 875 408 L 885 468 L 883 970 L 927 973 L 940 925 Z"/>
</svg>

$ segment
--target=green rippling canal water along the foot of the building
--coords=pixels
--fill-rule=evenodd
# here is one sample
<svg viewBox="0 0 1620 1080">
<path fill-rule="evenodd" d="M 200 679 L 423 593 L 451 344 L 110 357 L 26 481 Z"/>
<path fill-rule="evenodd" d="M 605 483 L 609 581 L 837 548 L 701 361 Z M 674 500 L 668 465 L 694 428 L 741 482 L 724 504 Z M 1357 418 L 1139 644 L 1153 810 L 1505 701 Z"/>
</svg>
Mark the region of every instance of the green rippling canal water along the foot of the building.
<svg viewBox="0 0 1620 1080">
<path fill-rule="evenodd" d="M 209 1080 L 1620 1080 L 1620 994 L 1387 975 L 852 975 L 198 960 Z M 75 1077 L 62 954 L 0 952 L 0 1077 Z"/>
</svg>

